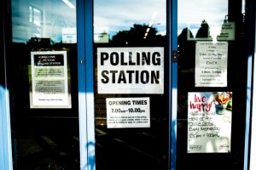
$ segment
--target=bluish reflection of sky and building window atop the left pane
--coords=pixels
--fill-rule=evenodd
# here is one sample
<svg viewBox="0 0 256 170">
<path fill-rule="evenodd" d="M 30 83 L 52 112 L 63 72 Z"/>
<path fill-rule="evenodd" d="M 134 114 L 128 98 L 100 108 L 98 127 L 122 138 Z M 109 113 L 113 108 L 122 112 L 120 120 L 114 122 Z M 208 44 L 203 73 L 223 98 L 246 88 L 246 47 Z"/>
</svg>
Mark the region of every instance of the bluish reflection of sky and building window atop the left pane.
<svg viewBox="0 0 256 170">
<path fill-rule="evenodd" d="M 75 5 L 74 0 L 13 0 L 13 42 L 27 42 L 31 37 L 50 38 L 55 43 L 62 42 L 62 30 L 76 28 Z M 67 35 L 67 31 L 65 34 Z M 68 32 L 68 36 L 69 39 L 73 39 L 68 42 L 76 42 L 76 31 Z"/>
</svg>

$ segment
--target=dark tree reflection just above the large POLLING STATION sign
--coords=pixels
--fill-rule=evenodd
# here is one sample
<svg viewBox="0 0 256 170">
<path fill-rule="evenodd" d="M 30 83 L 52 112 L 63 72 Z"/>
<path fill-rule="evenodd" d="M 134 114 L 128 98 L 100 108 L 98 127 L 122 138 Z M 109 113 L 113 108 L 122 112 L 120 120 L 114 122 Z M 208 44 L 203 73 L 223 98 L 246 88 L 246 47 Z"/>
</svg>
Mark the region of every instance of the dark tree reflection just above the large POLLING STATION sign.
<svg viewBox="0 0 256 170">
<path fill-rule="evenodd" d="M 145 37 L 148 32 L 147 37 Z M 150 45 L 154 46 L 165 44 L 166 36 L 157 35 L 157 30 L 154 27 L 147 25 L 134 24 L 129 31 L 119 31 L 112 38 L 112 43 L 121 45 Z"/>
</svg>

